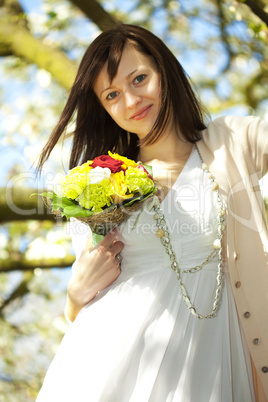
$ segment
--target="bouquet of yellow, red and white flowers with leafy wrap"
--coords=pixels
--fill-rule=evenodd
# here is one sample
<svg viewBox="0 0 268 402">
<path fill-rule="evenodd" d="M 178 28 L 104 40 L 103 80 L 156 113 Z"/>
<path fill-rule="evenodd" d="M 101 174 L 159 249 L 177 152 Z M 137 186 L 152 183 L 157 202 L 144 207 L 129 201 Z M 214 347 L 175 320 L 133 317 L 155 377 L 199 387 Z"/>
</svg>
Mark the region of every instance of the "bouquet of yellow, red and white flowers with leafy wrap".
<svg viewBox="0 0 268 402">
<path fill-rule="evenodd" d="M 109 151 L 71 169 L 58 193 L 39 195 L 56 215 L 87 223 L 95 245 L 156 190 L 151 166 Z"/>
</svg>

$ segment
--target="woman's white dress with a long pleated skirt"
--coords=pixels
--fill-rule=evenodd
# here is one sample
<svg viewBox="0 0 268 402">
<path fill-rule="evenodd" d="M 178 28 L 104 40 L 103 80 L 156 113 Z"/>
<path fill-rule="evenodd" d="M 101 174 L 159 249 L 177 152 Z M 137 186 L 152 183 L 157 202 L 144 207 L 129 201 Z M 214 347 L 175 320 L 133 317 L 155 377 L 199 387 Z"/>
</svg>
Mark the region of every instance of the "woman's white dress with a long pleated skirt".
<svg viewBox="0 0 268 402">
<path fill-rule="evenodd" d="M 181 269 L 200 264 L 212 251 L 217 211 L 210 188 L 193 149 L 162 202 Z M 84 229 L 77 221 L 71 227 L 78 255 L 89 233 Z M 137 211 L 120 226 L 122 272 L 70 326 L 38 402 L 255 401 L 227 263 L 217 316 L 197 319 L 182 299 L 155 231 L 148 210 Z M 215 257 L 202 270 L 182 274 L 201 314 L 212 309 L 217 263 Z"/>
</svg>

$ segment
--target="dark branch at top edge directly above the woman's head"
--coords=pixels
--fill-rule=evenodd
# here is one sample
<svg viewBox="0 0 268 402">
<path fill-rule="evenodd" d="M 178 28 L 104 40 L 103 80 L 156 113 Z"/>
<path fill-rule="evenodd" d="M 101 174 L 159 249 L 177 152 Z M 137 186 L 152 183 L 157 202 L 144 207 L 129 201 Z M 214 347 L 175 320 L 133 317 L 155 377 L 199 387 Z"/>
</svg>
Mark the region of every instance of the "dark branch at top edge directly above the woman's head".
<svg viewBox="0 0 268 402">
<path fill-rule="evenodd" d="M 70 0 L 102 31 L 116 27 L 116 21 L 96 0 Z"/>
</svg>

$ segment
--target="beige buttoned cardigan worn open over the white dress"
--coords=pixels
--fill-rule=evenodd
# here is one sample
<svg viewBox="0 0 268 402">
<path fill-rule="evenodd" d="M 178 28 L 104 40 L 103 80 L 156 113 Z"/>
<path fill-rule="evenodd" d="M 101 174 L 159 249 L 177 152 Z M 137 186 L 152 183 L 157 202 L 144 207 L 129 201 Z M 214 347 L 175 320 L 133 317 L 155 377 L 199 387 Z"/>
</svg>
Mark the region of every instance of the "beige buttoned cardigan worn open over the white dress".
<svg viewBox="0 0 268 402">
<path fill-rule="evenodd" d="M 259 179 L 268 171 L 268 123 L 216 119 L 197 143 L 227 205 L 227 266 L 250 351 L 256 399 L 268 401 L 268 234 Z"/>
</svg>

